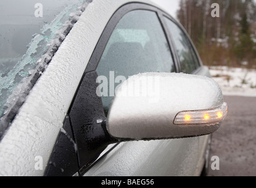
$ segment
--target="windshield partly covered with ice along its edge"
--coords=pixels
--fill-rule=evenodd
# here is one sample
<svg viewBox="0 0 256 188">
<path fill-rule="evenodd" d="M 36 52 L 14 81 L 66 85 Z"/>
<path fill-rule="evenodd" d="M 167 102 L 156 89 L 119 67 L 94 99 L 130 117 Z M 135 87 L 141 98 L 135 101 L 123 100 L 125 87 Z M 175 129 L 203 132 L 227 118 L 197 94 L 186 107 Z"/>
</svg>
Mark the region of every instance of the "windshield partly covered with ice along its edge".
<svg viewBox="0 0 256 188">
<path fill-rule="evenodd" d="M 0 117 L 49 43 L 84 0 L 0 1 Z"/>
</svg>

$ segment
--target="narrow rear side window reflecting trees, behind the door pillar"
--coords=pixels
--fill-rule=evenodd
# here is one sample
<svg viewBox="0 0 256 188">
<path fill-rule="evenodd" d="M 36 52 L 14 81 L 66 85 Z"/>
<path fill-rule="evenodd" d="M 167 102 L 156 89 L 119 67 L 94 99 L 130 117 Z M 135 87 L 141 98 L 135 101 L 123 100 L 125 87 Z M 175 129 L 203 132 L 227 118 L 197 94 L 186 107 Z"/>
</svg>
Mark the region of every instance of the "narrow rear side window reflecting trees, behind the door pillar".
<svg viewBox="0 0 256 188">
<path fill-rule="evenodd" d="M 193 72 L 195 69 L 197 69 L 199 62 L 187 36 L 181 30 L 181 28 L 179 28 L 179 26 L 170 19 L 165 18 L 165 21 L 177 49 L 179 62 L 181 64 L 181 72 Z"/>
</svg>

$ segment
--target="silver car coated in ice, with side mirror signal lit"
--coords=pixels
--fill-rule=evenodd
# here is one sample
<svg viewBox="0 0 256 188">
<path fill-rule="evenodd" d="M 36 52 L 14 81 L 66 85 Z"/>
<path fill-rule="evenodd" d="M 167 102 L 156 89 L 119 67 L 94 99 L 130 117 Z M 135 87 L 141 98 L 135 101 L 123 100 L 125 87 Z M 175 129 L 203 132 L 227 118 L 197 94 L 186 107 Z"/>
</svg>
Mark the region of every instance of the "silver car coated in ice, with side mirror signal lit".
<svg viewBox="0 0 256 188">
<path fill-rule="evenodd" d="M 207 172 L 227 104 L 168 11 L 148 0 L 51 0 L 34 10 L 32 24 L 0 30 L 11 39 L 0 53 L 0 175 Z"/>
</svg>

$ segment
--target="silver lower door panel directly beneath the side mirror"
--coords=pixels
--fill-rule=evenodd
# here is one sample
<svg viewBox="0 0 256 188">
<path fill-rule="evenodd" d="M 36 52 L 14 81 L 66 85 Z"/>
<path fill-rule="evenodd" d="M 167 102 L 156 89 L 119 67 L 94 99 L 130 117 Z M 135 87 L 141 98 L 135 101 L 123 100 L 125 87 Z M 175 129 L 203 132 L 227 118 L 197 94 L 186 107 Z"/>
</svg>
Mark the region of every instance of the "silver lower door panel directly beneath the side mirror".
<svg viewBox="0 0 256 188">
<path fill-rule="evenodd" d="M 120 143 L 85 176 L 199 176 L 200 155 L 198 137 Z"/>
</svg>

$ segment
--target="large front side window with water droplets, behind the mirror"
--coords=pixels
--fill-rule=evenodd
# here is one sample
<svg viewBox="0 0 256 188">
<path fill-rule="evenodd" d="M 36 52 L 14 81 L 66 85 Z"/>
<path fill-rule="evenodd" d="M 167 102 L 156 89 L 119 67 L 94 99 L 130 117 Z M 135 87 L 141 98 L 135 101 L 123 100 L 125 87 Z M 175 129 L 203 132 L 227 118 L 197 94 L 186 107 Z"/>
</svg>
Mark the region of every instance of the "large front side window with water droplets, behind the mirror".
<svg viewBox="0 0 256 188">
<path fill-rule="evenodd" d="M 106 115 L 115 88 L 128 76 L 143 72 L 175 72 L 175 67 L 157 14 L 135 10 L 118 22 L 97 68 Z"/>
</svg>

